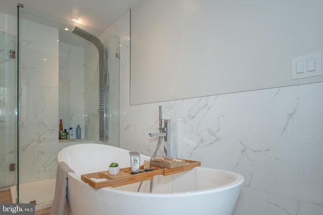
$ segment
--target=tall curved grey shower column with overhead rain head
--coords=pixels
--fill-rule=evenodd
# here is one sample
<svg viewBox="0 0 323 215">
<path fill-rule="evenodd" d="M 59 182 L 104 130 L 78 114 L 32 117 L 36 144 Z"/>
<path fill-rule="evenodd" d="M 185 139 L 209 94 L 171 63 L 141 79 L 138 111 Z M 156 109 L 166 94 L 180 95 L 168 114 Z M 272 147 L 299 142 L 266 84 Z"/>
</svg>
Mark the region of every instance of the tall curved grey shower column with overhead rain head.
<svg viewBox="0 0 323 215">
<path fill-rule="evenodd" d="M 108 100 L 108 81 L 109 75 L 107 73 L 107 58 L 105 54 L 105 48 L 101 40 L 99 40 L 94 35 L 74 27 L 72 30 L 73 34 L 82 37 L 93 43 L 99 52 L 99 136 L 100 141 L 106 142 L 109 139 L 109 129 L 108 129 L 108 112 L 107 112 L 107 100 Z M 103 104 L 103 105 L 102 105 Z"/>
</svg>

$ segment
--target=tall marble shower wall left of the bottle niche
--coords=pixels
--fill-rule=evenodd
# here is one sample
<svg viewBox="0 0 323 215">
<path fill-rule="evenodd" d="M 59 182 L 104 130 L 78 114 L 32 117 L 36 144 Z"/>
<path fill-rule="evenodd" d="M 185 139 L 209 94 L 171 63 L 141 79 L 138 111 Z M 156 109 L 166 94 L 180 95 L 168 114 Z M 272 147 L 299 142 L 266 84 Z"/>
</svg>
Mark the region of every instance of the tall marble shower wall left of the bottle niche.
<svg viewBox="0 0 323 215">
<path fill-rule="evenodd" d="M 59 131 L 59 31 L 21 20 L 19 183 L 56 177 Z"/>
</svg>

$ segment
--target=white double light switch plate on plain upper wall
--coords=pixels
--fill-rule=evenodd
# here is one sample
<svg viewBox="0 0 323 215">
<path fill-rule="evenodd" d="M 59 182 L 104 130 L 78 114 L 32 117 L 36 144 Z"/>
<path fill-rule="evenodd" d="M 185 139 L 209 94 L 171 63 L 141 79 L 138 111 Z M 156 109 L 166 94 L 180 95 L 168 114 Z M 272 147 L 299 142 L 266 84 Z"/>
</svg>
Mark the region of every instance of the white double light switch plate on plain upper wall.
<svg viewBox="0 0 323 215">
<path fill-rule="evenodd" d="M 307 65 L 307 63 L 310 63 Z M 303 65 L 303 69 L 300 69 L 299 66 Z M 291 79 L 303 79 L 315 76 L 322 75 L 322 60 L 321 52 L 304 55 L 301 57 L 294 57 L 291 60 Z M 303 72 L 300 72 L 300 71 Z"/>
</svg>

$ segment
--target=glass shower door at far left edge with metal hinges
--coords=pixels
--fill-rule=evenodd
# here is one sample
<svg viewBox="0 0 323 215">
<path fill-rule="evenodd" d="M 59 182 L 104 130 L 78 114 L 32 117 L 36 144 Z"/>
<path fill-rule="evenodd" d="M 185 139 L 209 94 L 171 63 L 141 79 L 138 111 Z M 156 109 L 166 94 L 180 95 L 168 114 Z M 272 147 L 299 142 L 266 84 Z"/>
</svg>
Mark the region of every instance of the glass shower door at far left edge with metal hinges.
<svg viewBox="0 0 323 215">
<path fill-rule="evenodd" d="M 15 185 L 15 36 L 0 32 L 0 191 Z M 12 165 L 11 165 L 12 164 Z"/>
</svg>

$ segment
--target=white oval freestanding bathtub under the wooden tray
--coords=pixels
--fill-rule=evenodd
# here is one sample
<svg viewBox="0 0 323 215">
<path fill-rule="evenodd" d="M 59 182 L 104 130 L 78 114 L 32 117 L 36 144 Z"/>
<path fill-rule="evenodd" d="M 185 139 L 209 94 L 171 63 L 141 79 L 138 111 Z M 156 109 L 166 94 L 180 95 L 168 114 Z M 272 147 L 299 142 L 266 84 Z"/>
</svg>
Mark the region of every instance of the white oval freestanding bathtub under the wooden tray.
<svg viewBox="0 0 323 215">
<path fill-rule="evenodd" d="M 106 171 L 117 162 L 130 166 L 129 151 L 101 144 L 77 144 L 58 155 L 75 173 L 68 174 L 67 201 L 73 215 L 132 214 L 212 214 L 230 215 L 236 204 L 244 178 L 236 173 L 195 167 L 170 176 L 121 187 L 94 189 L 81 181 L 81 175 Z M 150 157 L 140 156 L 142 165 Z"/>
</svg>

